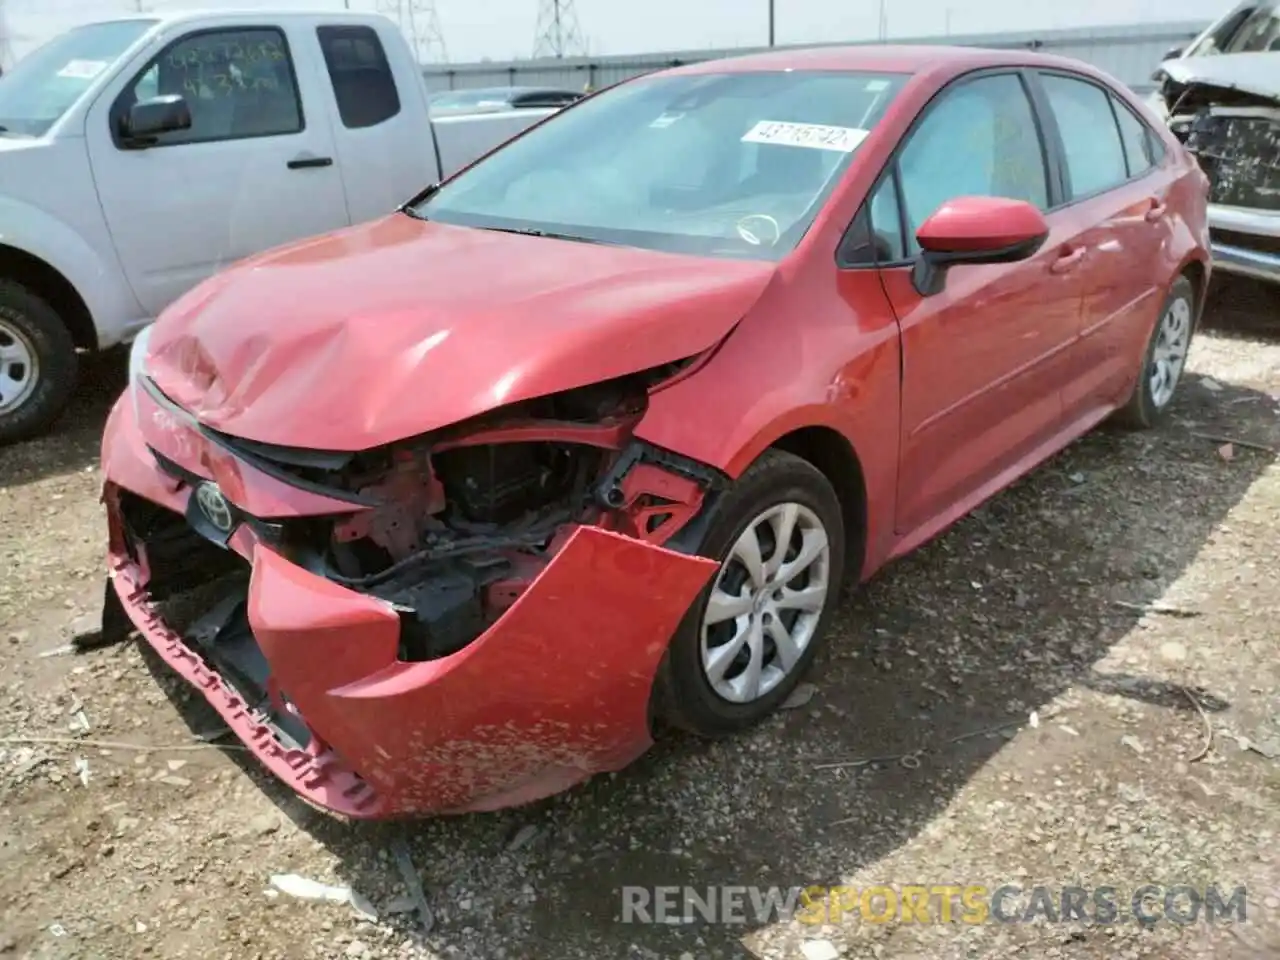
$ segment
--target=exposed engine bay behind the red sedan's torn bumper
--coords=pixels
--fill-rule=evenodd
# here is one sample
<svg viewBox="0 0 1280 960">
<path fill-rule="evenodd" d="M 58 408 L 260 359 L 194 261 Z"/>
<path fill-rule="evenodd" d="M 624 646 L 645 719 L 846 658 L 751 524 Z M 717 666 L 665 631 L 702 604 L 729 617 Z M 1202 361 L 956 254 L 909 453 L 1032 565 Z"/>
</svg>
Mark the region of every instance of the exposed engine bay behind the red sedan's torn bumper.
<svg viewBox="0 0 1280 960">
<path fill-rule="evenodd" d="M 242 517 L 291 562 L 393 604 L 402 660 L 454 653 L 521 596 L 579 525 L 667 544 L 724 483 L 716 470 L 634 439 L 649 390 L 694 361 L 646 370 L 486 413 L 433 434 L 362 453 L 280 448 L 204 429 L 224 449 L 296 486 L 349 502 L 351 512 Z M 155 451 L 157 462 L 193 488 Z M 195 502 L 196 498 L 193 497 Z M 131 524 L 148 544 L 184 541 L 195 556 L 193 509 L 170 531 L 140 500 Z M 147 512 L 140 518 L 140 511 Z M 168 511 L 160 511 L 168 513 Z M 131 517 L 132 515 L 132 517 Z M 214 547 L 205 532 L 204 548 Z M 148 545 L 148 550 L 150 550 Z M 221 561 L 238 561 L 214 547 Z M 180 573 L 186 562 L 151 567 Z M 168 577 L 166 577 L 168 579 Z M 164 590 L 163 584 L 156 584 Z"/>
</svg>

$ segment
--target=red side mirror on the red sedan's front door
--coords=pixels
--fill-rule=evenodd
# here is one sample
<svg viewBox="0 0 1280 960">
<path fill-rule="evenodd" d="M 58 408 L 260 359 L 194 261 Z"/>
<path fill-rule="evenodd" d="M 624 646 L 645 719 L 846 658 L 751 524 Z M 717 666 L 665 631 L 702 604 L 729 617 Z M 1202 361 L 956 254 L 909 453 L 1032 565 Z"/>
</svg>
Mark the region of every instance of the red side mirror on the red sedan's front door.
<svg viewBox="0 0 1280 960">
<path fill-rule="evenodd" d="M 1047 238 L 1044 215 L 1024 200 L 956 197 L 915 232 L 920 255 L 911 282 L 916 293 L 932 297 L 942 292 L 950 268 L 1027 260 Z"/>
</svg>

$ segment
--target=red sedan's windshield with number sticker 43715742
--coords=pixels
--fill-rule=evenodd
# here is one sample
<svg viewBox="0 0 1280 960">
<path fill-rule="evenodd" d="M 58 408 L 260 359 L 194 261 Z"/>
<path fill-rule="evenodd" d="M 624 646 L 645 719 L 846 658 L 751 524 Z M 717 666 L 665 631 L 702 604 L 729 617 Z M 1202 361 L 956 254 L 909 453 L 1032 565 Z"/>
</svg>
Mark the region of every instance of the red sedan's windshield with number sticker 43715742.
<svg viewBox="0 0 1280 960">
<path fill-rule="evenodd" d="M 408 212 L 707 256 L 795 247 L 901 74 L 631 81 L 568 108 Z"/>
</svg>

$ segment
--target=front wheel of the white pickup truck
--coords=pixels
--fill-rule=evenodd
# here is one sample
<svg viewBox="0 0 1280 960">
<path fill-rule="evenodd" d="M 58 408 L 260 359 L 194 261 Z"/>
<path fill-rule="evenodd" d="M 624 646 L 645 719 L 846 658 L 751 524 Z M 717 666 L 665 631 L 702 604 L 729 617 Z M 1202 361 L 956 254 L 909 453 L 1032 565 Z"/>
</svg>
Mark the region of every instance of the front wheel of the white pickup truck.
<svg viewBox="0 0 1280 960">
<path fill-rule="evenodd" d="M 76 344 L 61 319 L 22 284 L 0 280 L 0 444 L 47 430 L 76 387 Z"/>
</svg>

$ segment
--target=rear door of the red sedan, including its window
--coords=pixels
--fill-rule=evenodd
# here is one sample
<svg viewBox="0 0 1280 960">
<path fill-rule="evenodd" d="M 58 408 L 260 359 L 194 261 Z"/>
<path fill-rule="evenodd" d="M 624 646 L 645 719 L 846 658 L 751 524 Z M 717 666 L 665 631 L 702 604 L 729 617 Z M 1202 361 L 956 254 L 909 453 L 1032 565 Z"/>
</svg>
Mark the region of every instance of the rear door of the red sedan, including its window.
<svg viewBox="0 0 1280 960">
<path fill-rule="evenodd" d="M 1157 163 L 1158 140 L 1103 84 L 1066 72 L 1039 72 L 1046 129 L 1061 145 L 1064 205 L 1076 227 L 1083 308 L 1069 417 L 1123 401 L 1164 301 L 1171 238 L 1166 207 L 1175 174 Z"/>
</svg>

